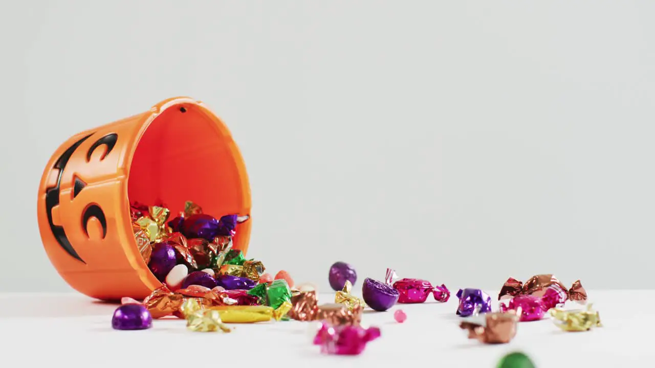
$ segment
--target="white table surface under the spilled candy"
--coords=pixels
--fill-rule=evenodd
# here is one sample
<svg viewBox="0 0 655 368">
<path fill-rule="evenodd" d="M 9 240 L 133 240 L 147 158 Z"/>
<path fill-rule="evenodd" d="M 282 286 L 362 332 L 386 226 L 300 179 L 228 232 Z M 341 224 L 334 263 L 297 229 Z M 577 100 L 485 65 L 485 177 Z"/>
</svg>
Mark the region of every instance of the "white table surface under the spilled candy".
<svg viewBox="0 0 655 368">
<path fill-rule="evenodd" d="M 362 323 L 381 327 L 382 336 L 359 356 L 320 354 L 306 322 L 231 325 L 234 331 L 226 334 L 188 331 L 183 320 L 155 320 L 148 330 L 116 331 L 111 315 L 117 304 L 77 293 L 5 293 L 0 294 L 1 366 L 362 368 L 369 367 L 366 363 L 414 363 L 406 367 L 491 368 L 504 354 L 521 350 L 536 367 L 655 367 L 655 291 L 588 291 L 604 327 L 567 333 L 548 319 L 521 322 L 514 340 L 499 345 L 466 339 L 455 315 L 456 291 L 447 303 L 396 304 L 388 312 L 365 312 Z M 333 294 L 319 299 L 329 303 Z M 405 323 L 394 321 L 398 308 L 407 314 Z"/>
</svg>

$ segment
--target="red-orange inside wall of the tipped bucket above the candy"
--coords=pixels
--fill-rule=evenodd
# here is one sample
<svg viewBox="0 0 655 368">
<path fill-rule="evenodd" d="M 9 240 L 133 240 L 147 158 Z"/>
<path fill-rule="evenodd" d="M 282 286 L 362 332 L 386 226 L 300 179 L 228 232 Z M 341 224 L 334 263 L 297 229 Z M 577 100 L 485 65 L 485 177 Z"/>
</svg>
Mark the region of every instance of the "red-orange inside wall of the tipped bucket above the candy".
<svg viewBox="0 0 655 368">
<path fill-rule="evenodd" d="M 227 129 L 193 103 L 165 109 L 141 136 L 128 170 L 130 204 L 168 208 L 170 219 L 191 200 L 216 218 L 244 212 L 240 160 Z M 238 233 L 238 229 L 237 229 Z"/>
</svg>

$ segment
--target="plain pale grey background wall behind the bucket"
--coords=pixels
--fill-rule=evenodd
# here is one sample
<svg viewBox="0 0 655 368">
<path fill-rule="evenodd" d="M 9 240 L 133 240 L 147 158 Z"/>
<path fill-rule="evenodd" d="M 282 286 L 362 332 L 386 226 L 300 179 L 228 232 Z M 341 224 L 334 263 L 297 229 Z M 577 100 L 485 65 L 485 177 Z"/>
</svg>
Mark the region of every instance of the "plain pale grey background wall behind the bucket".
<svg viewBox="0 0 655 368">
<path fill-rule="evenodd" d="M 327 287 L 652 287 L 652 1 L 3 1 L 0 291 L 69 291 L 36 196 L 65 139 L 173 96 L 229 124 L 249 255 Z"/>
</svg>

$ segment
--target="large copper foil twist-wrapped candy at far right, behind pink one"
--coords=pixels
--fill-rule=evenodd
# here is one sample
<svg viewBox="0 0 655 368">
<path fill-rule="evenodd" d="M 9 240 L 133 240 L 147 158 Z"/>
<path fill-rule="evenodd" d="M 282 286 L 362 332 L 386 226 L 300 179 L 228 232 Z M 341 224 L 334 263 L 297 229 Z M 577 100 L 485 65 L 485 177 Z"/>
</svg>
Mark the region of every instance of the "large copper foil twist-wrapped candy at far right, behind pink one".
<svg viewBox="0 0 655 368">
<path fill-rule="evenodd" d="M 563 306 L 567 299 L 580 303 L 587 300 L 587 291 L 580 284 L 580 280 L 574 282 L 571 289 L 567 289 L 552 274 L 535 275 L 527 280 L 525 284 L 514 278 L 509 278 L 502 285 L 502 289 L 498 293 L 498 299 L 509 299 L 517 295 L 542 297 L 546 310 Z"/>
</svg>

